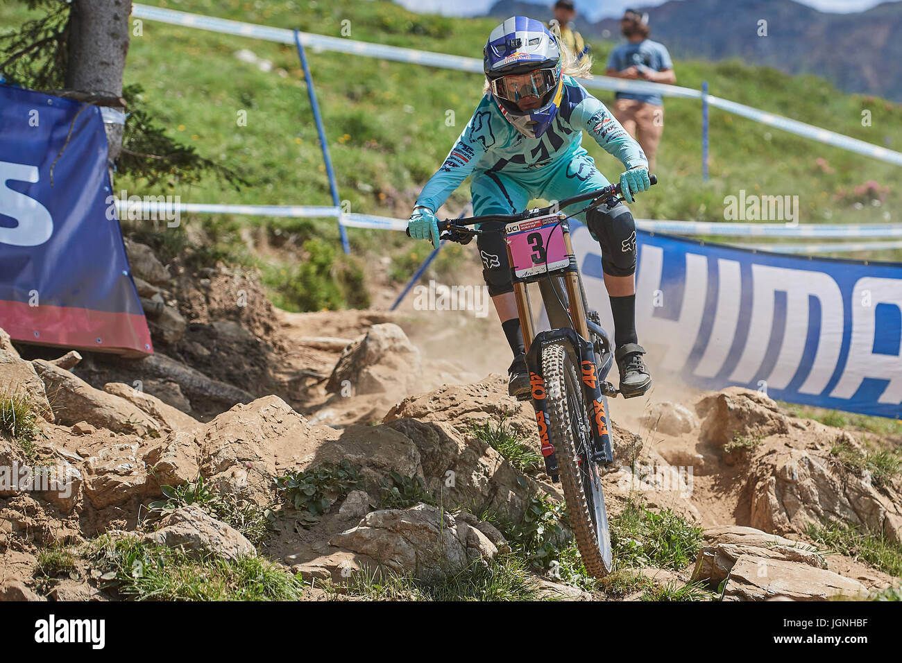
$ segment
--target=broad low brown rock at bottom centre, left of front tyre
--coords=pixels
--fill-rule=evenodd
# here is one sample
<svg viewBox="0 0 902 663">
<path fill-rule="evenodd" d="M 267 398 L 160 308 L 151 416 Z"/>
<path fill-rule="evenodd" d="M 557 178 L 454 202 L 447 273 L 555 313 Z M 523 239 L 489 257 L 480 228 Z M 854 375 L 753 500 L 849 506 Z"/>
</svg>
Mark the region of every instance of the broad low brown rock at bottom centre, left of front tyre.
<svg viewBox="0 0 902 663">
<path fill-rule="evenodd" d="M 434 581 L 498 552 L 479 529 L 427 504 L 373 511 L 329 543 L 371 557 L 398 574 Z"/>
</svg>

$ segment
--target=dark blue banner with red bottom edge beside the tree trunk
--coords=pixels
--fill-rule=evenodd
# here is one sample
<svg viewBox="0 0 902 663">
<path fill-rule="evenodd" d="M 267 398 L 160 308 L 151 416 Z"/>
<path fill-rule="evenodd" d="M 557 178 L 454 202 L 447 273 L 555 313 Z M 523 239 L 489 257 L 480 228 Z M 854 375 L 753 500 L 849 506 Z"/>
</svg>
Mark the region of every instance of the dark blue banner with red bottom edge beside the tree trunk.
<svg viewBox="0 0 902 663">
<path fill-rule="evenodd" d="M 100 109 L 0 85 L 0 327 L 152 352 L 106 170 Z"/>
</svg>

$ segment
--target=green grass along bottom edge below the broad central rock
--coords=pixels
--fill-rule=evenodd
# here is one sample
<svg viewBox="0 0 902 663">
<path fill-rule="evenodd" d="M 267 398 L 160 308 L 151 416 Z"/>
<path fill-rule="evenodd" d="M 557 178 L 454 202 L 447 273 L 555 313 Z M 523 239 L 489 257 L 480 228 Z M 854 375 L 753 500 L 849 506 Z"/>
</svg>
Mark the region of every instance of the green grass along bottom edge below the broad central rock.
<svg viewBox="0 0 902 663">
<path fill-rule="evenodd" d="M 536 601 L 542 596 L 515 555 L 477 560 L 436 582 L 390 572 L 355 573 L 347 593 L 367 601 Z"/>
</svg>

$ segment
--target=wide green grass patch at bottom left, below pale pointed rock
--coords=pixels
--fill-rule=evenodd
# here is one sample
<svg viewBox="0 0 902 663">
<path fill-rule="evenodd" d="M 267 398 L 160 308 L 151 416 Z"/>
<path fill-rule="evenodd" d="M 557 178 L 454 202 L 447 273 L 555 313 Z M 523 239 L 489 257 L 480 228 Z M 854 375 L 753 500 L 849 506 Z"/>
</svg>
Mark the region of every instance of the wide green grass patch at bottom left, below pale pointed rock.
<svg viewBox="0 0 902 663">
<path fill-rule="evenodd" d="M 102 586 L 135 601 L 295 601 L 299 576 L 261 557 L 189 557 L 131 537 L 89 542 L 86 557 L 103 575 Z"/>
</svg>

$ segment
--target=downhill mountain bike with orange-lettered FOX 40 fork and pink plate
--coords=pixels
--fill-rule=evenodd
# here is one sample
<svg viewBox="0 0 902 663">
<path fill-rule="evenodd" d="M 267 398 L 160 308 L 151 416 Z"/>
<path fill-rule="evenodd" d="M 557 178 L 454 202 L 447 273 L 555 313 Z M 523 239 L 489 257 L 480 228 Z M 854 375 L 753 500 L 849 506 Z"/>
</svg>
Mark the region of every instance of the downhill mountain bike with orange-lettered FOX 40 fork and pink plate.
<svg viewBox="0 0 902 663">
<path fill-rule="evenodd" d="M 651 183 L 658 179 L 652 175 Z M 601 318 L 589 309 L 570 242 L 568 219 L 594 207 L 613 207 L 620 185 L 610 185 L 557 205 L 513 215 L 485 215 L 438 222 L 441 238 L 468 244 L 483 233 L 502 233 L 511 265 L 513 291 L 529 368 L 531 399 L 545 469 L 564 490 L 570 526 L 586 571 L 611 572 L 611 534 L 602 493 L 602 470 L 613 462 L 606 382 L 613 364 L 611 340 Z M 573 215 L 563 207 L 590 201 Z M 474 228 L 478 224 L 479 228 Z M 529 283 L 538 283 L 550 330 L 536 332 Z"/>
</svg>

